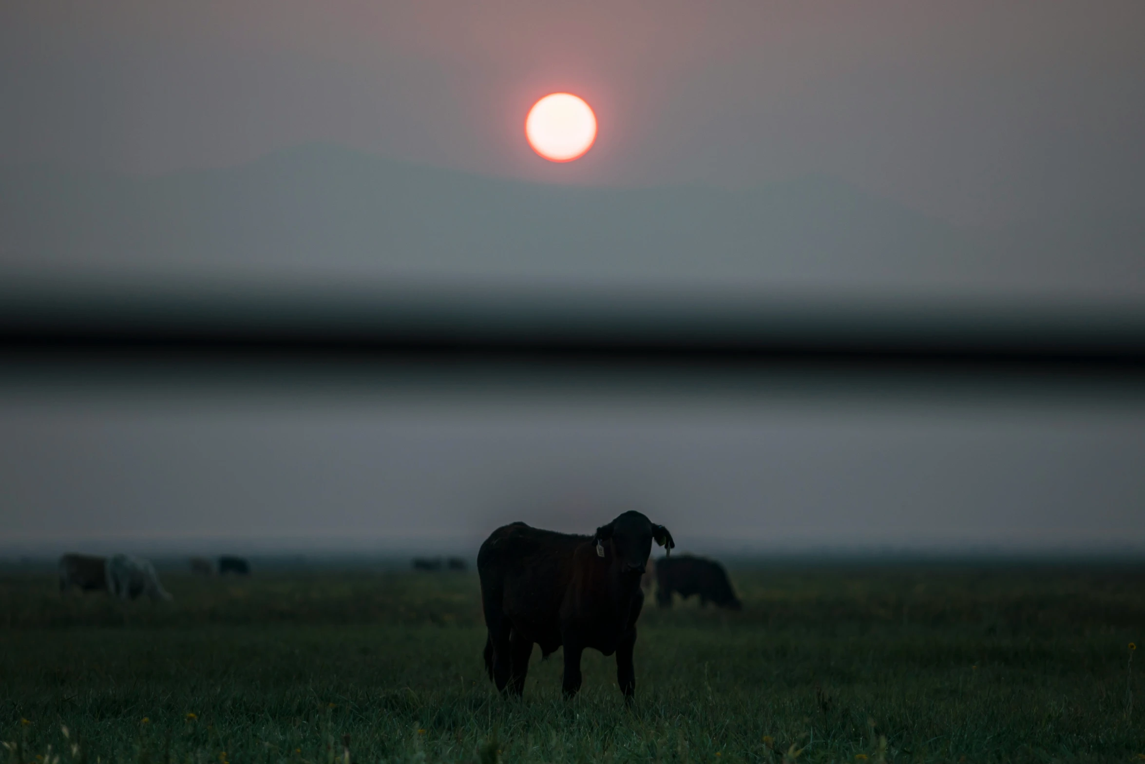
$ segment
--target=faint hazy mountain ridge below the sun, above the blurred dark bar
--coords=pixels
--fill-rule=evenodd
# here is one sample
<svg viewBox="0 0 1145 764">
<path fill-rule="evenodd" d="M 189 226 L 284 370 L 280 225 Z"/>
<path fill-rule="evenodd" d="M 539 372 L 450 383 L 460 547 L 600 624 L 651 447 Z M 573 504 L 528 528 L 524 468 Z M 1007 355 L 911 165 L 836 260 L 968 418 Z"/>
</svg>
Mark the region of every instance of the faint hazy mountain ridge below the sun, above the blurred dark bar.
<svg viewBox="0 0 1145 764">
<path fill-rule="evenodd" d="M 1118 225 L 1114 241 L 987 235 L 828 178 L 743 191 L 545 186 L 329 145 L 159 178 L 0 167 L 0 268 L 23 271 L 1136 289 L 1145 227 Z"/>
</svg>

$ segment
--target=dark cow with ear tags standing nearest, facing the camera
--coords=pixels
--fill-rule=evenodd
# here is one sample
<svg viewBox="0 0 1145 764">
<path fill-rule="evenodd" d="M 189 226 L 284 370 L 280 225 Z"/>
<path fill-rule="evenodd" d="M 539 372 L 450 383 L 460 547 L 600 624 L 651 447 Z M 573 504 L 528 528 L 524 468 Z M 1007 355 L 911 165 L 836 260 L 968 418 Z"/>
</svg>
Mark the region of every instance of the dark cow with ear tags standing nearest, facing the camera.
<svg viewBox="0 0 1145 764">
<path fill-rule="evenodd" d="M 564 646 L 564 696 L 581 688 L 586 647 L 616 653 L 625 700 L 635 691 L 632 647 L 643 606 L 640 576 L 652 542 L 676 546 L 664 526 L 625 512 L 594 536 L 574 536 L 514 522 L 495 530 L 477 553 L 481 605 L 489 636 L 485 670 L 497 690 L 524 691 L 534 643 L 547 657 Z"/>
</svg>

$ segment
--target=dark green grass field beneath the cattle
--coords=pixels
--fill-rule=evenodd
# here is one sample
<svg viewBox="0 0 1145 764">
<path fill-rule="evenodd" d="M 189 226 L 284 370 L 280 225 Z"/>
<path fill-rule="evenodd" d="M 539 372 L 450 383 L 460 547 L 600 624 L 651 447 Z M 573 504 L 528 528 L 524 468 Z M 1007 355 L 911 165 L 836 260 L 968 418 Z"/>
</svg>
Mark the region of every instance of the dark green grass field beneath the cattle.
<svg viewBox="0 0 1145 764">
<path fill-rule="evenodd" d="M 0 576 L 9 762 L 1003 762 L 1145 758 L 1145 568 L 739 567 L 742 613 L 648 607 L 637 703 L 483 674 L 474 574 L 163 573 L 175 601 Z M 1145 653 L 1142 654 L 1145 659 Z M 1145 661 L 1143 661 L 1145 662 Z M 63 727 L 66 727 L 66 734 Z M 866 757 L 866 759 L 864 759 Z"/>
</svg>

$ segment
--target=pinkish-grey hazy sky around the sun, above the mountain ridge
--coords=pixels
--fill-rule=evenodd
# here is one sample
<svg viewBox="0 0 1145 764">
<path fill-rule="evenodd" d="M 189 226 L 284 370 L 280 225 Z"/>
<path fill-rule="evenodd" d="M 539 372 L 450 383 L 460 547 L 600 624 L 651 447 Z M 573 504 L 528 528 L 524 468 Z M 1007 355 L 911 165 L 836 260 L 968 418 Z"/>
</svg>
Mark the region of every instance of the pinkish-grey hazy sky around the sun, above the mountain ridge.
<svg viewBox="0 0 1145 764">
<path fill-rule="evenodd" d="M 1145 208 L 1137 0 L 9 0 L 0 159 L 131 172 L 307 141 L 555 182 L 823 173 L 960 223 Z M 526 145 L 540 95 L 582 160 Z"/>
</svg>

